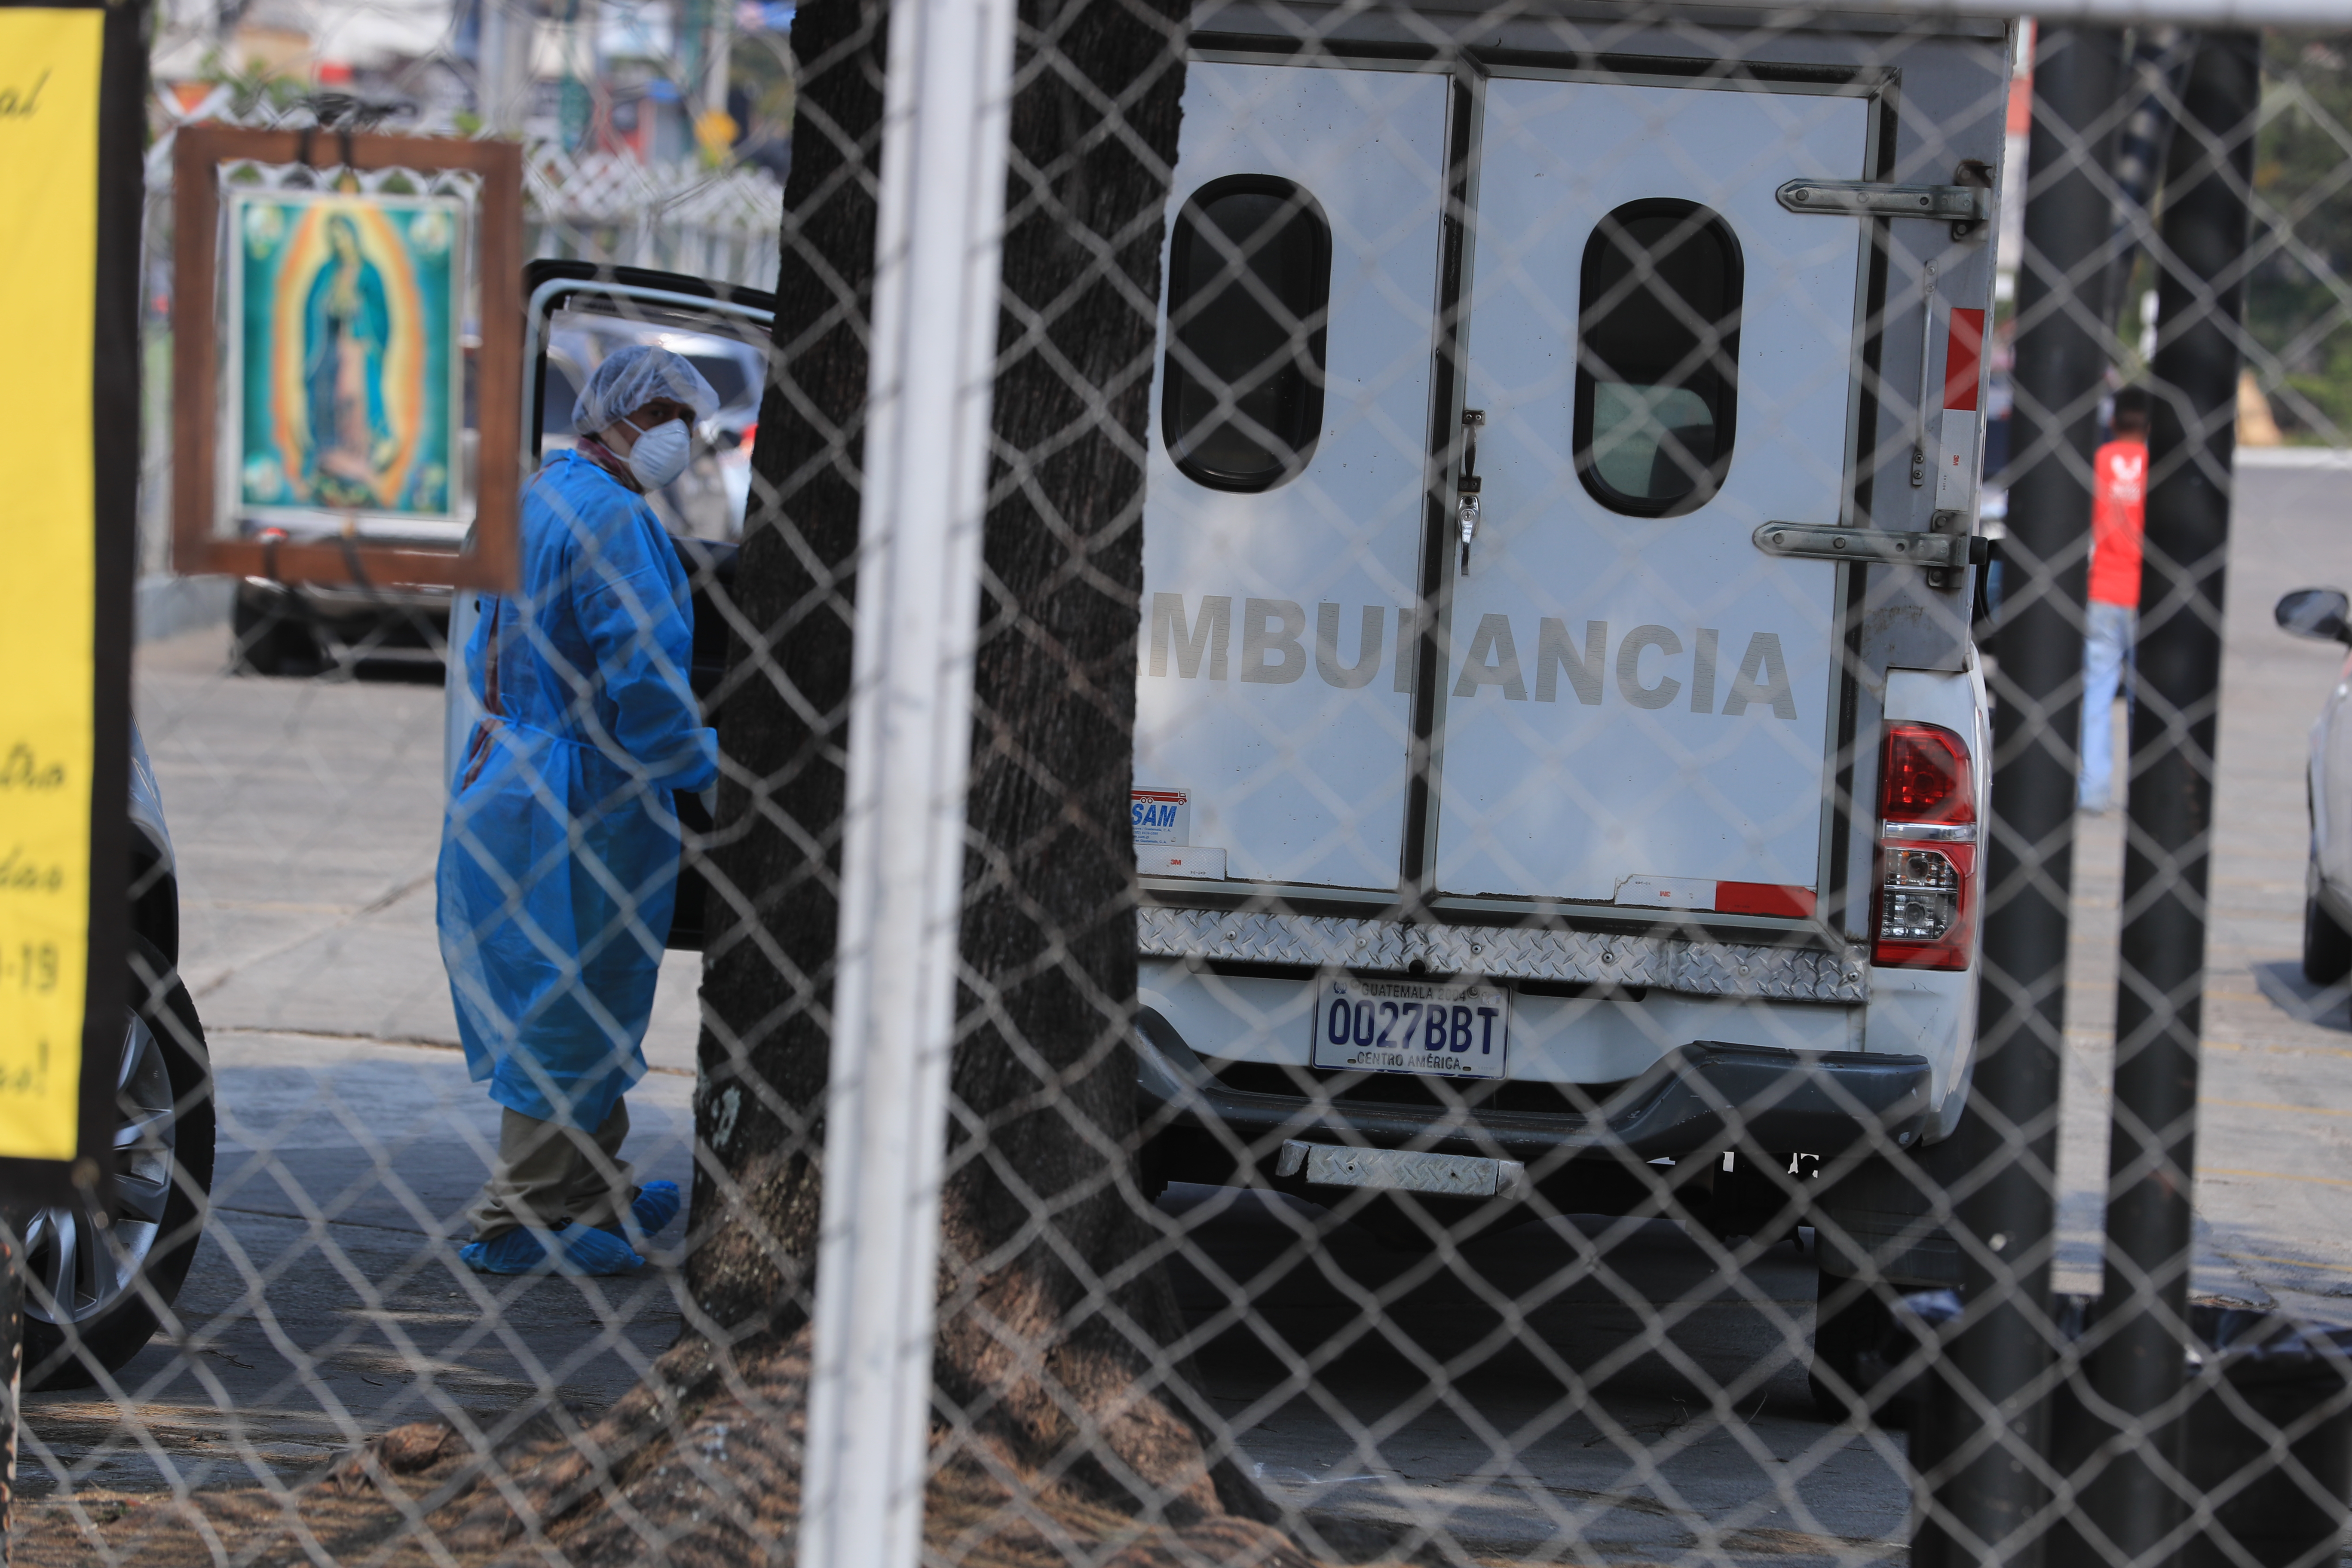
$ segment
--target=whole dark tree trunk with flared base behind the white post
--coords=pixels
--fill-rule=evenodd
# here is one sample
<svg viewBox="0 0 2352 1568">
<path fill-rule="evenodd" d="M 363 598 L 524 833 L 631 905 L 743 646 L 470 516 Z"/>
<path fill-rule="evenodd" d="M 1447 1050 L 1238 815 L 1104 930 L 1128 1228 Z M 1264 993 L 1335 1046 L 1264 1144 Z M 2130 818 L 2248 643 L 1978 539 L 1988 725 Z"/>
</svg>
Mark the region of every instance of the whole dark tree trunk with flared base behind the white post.
<svg viewBox="0 0 2352 1568">
<path fill-rule="evenodd" d="M 572 1561 L 771 1561 L 797 1516 L 844 799 L 884 0 L 802 5 L 776 374 L 720 715 L 687 1333 L 524 1507 Z M 1185 0 L 1021 0 L 941 1201 L 934 1542 L 1301 1561 L 1167 1345 L 1134 1180 L 1129 832 L 1143 451 Z M 1131 1556 L 1129 1556 L 1131 1554 Z"/>
</svg>

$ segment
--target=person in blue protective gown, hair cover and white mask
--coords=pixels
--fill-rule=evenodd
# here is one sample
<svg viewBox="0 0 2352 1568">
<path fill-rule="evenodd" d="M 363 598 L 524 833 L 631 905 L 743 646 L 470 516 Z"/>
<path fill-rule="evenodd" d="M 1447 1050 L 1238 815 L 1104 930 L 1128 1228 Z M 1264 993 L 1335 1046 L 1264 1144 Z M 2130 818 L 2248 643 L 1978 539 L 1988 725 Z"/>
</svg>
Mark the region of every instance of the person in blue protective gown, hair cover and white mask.
<svg viewBox="0 0 2352 1568">
<path fill-rule="evenodd" d="M 621 1161 L 623 1093 L 677 896 L 675 795 L 717 780 L 717 733 L 687 684 L 687 576 L 644 494 L 715 409 L 680 355 L 609 355 L 572 411 L 579 449 L 524 491 L 522 585 L 482 595 L 466 642 L 482 719 L 437 893 L 466 1065 L 503 1107 L 459 1253 L 487 1274 L 635 1269 L 677 1215 L 675 1182 L 637 1187 Z"/>
</svg>

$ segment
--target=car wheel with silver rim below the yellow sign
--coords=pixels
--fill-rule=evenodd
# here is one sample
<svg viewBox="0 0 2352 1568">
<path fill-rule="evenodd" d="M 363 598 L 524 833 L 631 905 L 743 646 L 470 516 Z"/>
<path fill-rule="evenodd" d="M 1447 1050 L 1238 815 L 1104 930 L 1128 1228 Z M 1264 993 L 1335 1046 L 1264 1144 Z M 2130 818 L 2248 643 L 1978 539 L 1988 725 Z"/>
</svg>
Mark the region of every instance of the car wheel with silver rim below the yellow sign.
<svg viewBox="0 0 2352 1568">
<path fill-rule="evenodd" d="M 24 1368 L 35 1389 L 96 1382 L 139 1354 L 195 1262 L 212 1194 L 212 1056 L 172 964 L 132 936 L 115 1072 L 115 1182 L 42 1208 L 24 1237 Z"/>
</svg>

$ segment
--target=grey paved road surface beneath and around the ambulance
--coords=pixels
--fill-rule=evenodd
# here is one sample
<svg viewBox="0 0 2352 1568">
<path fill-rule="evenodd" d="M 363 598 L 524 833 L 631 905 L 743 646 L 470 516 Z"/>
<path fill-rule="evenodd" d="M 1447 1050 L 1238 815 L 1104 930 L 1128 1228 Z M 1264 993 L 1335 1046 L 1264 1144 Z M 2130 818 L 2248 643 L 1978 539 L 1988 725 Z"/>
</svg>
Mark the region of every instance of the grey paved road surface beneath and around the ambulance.
<svg viewBox="0 0 2352 1568">
<path fill-rule="evenodd" d="M 2223 705 L 2199 1291 L 2352 1321 L 2352 1009 L 2296 973 L 2303 736 L 2338 651 L 2270 625 L 2352 588 L 2352 470 L 2241 475 Z M 141 649 L 139 717 L 183 863 L 183 971 L 219 1072 L 214 1222 L 179 1335 L 118 1389 L 31 1399 L 28 1488 L 289 1476 L 421 1415 L 485 1434 L 597 1408 L 677 1333 L 675 1258 L 628 1281 L 485 1281 L 454 1218 L 494 1107 L 468 1084 L 433 938 L 440 691 L 240 679 L 221 635 Z M 2077 875 L 2060 1286 L 2096 1288 L 2122 823 Z M 630 1154 L 689 1168 L 691 957 L 663 971 Z M 1381 1248 L 1287 1199 L 1178 1187 L 1195 1371 L 1272 1488 L 1442 1526 L 1477 1556 L 1872 1561 L 1898 1552 L 1900 1439 L 1804 1387 L 1813 1272 L 1745 1269 L 1663 1222 Z M 675 1232 L 670 1237 L 675 1241 Z M 1606 1246 L 1609 1267 L 1548 1286 Z M 1367 1328 L 1362 1302 L 1383 1312 Z M 1569 1389 L 1590 1382 L 1597 1394 Z"/>
</svg>

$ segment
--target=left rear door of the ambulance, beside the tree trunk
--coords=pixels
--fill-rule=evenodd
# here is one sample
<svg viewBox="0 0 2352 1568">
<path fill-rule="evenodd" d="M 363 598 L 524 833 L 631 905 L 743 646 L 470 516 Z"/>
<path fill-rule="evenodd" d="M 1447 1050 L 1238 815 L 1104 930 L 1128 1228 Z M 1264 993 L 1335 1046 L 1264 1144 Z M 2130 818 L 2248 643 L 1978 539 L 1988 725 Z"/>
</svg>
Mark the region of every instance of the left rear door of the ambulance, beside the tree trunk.
<svg viewBox="0 0 2352 1568">
<path fill-rule="evenodd" d="M 1432 63 L 1188 68 L 1143 527 L 1145 877 L 1397 893 L 1446 115 Z"/>
</svg>

